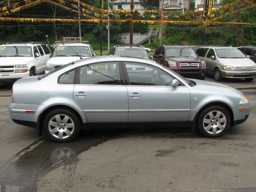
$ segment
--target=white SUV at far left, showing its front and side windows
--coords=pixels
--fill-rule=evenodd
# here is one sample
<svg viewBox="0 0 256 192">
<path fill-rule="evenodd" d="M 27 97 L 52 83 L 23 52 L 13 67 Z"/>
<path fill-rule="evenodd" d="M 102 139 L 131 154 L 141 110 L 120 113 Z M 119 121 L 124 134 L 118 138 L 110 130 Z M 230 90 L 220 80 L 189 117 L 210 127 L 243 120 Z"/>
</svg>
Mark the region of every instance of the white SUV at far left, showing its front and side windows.
<svg viewBox="0 0 256 192">
<path fill-rule="evenodd" d="M 43 74 L 50 49 L 40 42 L 0 45 L 0 83 Z"/>
</svg>

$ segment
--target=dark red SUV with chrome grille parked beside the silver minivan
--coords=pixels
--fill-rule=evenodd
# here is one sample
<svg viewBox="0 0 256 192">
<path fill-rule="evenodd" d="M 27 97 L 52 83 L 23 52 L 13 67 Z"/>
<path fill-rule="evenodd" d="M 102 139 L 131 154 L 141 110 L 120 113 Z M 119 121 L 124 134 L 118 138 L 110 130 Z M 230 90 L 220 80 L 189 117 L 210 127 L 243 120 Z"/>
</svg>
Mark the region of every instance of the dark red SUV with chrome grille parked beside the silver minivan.
<svg viewBox="0 0 256 192">
<path fill-rule="evenodd" d="M 153 60 L 186 78 L 201 80 L 205 78 L 205 62 L 198 58 L 191 46 L 158 46 L 154 53 Z"/>
</svg>

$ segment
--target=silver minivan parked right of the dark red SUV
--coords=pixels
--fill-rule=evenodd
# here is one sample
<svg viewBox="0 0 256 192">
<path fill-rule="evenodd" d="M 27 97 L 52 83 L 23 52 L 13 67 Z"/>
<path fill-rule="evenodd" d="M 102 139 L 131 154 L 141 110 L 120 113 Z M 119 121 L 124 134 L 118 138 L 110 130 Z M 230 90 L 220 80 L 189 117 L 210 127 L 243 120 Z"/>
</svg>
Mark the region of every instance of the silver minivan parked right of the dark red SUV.
<svg viewBox="0 0 256 192">
<path fill-rule="evenodd" d="M 256 76 L 255 63 L 235 47 L 203 46 L 196 54 L 206 62 L 206 73 L 214 74 L 216 81 L 223 78 L 252 81 Z"/>
</svg>

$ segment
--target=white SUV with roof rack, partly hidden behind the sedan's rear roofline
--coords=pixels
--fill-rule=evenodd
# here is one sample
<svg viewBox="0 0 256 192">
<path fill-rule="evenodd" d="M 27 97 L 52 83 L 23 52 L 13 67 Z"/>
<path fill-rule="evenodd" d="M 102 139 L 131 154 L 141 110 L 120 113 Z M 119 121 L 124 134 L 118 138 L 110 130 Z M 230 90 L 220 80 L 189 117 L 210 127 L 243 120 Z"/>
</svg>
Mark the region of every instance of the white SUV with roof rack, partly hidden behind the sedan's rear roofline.
<svg viewBox="0 0 256 192">
<path fill-rule="evenodd" d="M 62 43 L 59 44 L 51 58 L 46 63 L 45 73 L 48 73 L 62 65 L 96 56 L 92 46 L 85 43 Z"/>
</svg>

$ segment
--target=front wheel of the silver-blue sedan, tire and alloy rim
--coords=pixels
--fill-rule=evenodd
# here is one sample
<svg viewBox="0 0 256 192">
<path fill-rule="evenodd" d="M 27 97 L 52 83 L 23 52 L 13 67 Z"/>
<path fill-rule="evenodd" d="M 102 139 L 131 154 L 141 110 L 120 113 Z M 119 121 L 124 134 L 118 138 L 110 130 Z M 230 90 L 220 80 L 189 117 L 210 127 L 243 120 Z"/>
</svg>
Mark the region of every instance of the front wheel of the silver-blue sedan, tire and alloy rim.
<svg viewBox="0 0 256 192">
<path fill-rule="evenodd" d="M 230 114 L 225 108 L 210 106 L 198 117 L 198 131 L 206 137 L 219 137 L 228 131 L 230 121 Z"/>
</svg>

